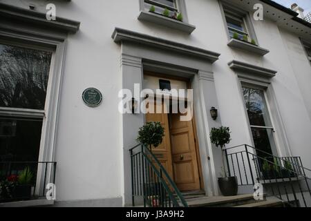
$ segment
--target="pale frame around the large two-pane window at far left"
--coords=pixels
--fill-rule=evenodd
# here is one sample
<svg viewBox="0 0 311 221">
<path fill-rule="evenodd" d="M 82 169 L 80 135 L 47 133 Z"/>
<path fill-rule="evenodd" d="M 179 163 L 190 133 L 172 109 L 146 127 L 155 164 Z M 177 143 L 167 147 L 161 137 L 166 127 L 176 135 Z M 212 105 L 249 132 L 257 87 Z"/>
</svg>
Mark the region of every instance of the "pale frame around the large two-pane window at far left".
<svg viewBox="0 0 311 221">
<path fill-rule="evenodd" d="M 14 29 L 0 28 L 0 43 L 53 52 L 50 61 L 50 73 L 48 76 L 44 110 L 0 107 L 0 115 L 3 116 L 13 115 L 15 117 L 43 118 L 38 162 L 53 162 L 55 161 L 57 115 L 66 48 L 66 35 L 64 34 L 62 36 L 50 33 L 44 35 L 42 32 L 35 30 L 15 31 Z"/>
</svg>

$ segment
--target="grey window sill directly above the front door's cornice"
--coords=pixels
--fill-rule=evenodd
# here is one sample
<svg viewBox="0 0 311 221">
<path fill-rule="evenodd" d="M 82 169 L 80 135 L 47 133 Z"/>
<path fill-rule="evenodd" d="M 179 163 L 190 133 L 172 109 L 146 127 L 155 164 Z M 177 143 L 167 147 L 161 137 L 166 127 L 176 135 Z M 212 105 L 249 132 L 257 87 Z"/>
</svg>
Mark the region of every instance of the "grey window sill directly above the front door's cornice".
<svg viewBox="0 0 311 221">
<path fill-rule="evenodd" d="M 192 26 L 189 23 L 177 21 L 175 19 L 164 17 L 162 15 L 156 15 L 151 12 L 140 11 L 140 15 L 138 15 L 138 20 L 157 23 L 161 26 L 167 26 L 168 28 L 181 30 L 182 32 L 186 32 L 188 34 L 191 34 L 191 32 L 193 32 L 196 29 L 196 26 Z"/>
</svg>

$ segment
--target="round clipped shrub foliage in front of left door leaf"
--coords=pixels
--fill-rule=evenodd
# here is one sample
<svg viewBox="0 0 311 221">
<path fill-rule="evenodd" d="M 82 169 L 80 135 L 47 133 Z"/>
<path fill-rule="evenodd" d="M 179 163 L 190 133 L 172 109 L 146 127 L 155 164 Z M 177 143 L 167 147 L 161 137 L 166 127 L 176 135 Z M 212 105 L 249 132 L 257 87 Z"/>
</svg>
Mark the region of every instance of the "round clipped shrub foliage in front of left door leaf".
<svg viewBox="0 0 311 221">
<path fill-rule="evenodd" d="M 136 140 L 151 148 L 151 146 L 159 146 L 162 143 L 163 136 L 164 128 L 160 122 L 147 122 L 147 124 L 140 127 Z"/>
</svg>

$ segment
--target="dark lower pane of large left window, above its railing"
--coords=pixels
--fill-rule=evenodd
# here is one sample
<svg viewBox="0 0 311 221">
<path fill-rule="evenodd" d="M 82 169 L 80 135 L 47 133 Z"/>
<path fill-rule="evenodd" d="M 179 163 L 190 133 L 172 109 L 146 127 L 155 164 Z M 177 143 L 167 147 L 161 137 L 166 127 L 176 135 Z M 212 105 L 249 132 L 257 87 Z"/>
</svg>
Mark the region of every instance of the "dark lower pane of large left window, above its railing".
<svg viewBox="0 0 311 221">
<path fill-rule="evenodd" d="M 42 119 L 0 117 L 0 161 L 37 162 Z"/>
</svg>

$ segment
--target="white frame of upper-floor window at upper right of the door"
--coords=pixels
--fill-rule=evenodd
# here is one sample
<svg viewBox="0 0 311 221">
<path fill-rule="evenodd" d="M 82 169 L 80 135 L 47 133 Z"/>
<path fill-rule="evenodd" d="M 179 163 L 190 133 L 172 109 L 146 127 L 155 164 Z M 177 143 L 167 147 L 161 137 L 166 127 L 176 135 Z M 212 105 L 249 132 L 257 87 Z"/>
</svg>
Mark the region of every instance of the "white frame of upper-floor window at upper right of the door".
<svg viewBox="0 0 311 221">
<path fill-rule="evenodd" d="M 226 17 L 230 17 L 234 20 L 240 20 L 243 23 L 243 26 L 245 28 L 245 32 L 242 32 L 241 30 L 236 30 L 236 32 L 241 32 L 243 34 L 247 35 L 248 41 L 251 41 L 254 39 L 256 41 L 256 44 L 258 44 L 258 40 L 255 35 L 254 27 L 252 26 L 251 17 L 249 16 L 249 12 L 246 12 L 244 10 L 241 10 L 240 8 L 237 8 L 235 6 L 232 6 L 230 3 L 219 1 L 220 3 L 220 10 L 223 15 L 223 22 L 225 25 L 225 30 L 227 33 L 227 38 L 230 40 L 232 37 L 230 37 L 229 29 L 234 30 L 234 28 L 230 28 L 227 26 L 227 19 Z"/>
</svg>

